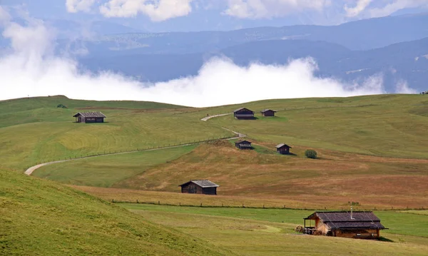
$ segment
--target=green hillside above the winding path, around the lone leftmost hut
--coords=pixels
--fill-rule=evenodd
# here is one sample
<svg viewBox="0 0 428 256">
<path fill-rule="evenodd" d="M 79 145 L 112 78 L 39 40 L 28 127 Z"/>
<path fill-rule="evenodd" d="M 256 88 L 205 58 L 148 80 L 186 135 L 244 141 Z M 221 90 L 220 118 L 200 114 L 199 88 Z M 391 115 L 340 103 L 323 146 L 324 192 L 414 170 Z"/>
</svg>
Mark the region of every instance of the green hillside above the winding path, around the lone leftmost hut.
<svg viewBox="0 0 428 256">
<path fill-rule="evenodd" d="M 68 108 L 56 108 L 63 103 Z M 78 111 L 102 111 L 106 123 L 73 123 Z M 191 108 L 133 101 L 75 101 L 64 97 L 0 101 L 0 167 L 136 150 L 233 135 L 180 115 Z"/>
</svg>

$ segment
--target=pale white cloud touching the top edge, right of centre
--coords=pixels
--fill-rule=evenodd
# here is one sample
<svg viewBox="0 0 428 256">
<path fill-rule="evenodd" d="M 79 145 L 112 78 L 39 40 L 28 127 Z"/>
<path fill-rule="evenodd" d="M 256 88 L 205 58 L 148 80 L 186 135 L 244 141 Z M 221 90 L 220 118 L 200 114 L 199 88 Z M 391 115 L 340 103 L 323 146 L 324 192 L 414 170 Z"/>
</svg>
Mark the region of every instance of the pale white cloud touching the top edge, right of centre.
<svg viewBox="0 0 428 256">
<path fill-rule="evenodd" d="M 322 11 L 331 0 L 227 0 L 225 14 L 238 18 L 261 19 L 286 16 L 295 12 Z"/>
</svg>

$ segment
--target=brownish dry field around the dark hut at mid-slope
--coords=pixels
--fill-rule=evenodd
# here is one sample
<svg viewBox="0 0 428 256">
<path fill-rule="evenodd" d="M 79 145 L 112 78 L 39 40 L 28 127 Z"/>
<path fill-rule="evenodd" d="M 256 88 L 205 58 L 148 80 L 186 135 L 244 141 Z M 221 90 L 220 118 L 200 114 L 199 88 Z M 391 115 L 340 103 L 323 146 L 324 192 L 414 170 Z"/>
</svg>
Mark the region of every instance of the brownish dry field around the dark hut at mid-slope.
<svg viewBox="0 0 428 256">
<path fill-rule="evenodd" d="M 101 198 L 177 205 L 330 208 L 360 203 L 360 209 L 428 208 L 428 160 L 382 158 L 317 150 L 320 159 L 271 153 L 270 144 L 241 151 L 231 143 L 205 144 L 170 163 L 123 180 L 113 188 L 81 188 Z M 264 150 L 264 153 L 260 153 Z M 178 185 L 209 179 L 219 196 L 182 195 Z M 128 188 L 131 190 L 123 190 Z M 139 191 L 140 190 L 140 191 Z M 153 192 L 143 190 L 154 190 Z M 158 191 L 158 192 L 156 192 Z M 169 192 L 169 193 L 161 193 Z M 175 192 L 175 193 L 174 193 Z M 150 200 L 152 198 L 152 200 Z M 157 199 L 158 198 L 158 199 Z M 269 206 L 268 206 L 269 205 Z"/>
</svg>

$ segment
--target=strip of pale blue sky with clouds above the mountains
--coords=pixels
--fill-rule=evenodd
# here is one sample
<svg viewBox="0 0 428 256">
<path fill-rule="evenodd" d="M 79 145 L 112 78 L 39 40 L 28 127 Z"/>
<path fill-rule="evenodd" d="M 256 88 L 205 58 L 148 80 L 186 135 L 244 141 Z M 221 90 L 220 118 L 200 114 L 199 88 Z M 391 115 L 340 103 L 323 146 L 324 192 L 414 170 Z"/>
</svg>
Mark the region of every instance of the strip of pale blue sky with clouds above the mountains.
<svg viewBox="0 0 428 256">
<path fill-rule="evenodd" d="M 108 20 L 146 31 L 335 25 L 428 11 L 427 0 L 0 0 L 42 19 Z"/>
</svg>

